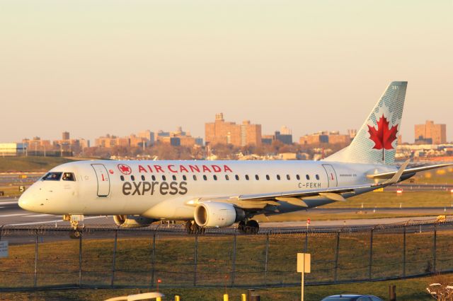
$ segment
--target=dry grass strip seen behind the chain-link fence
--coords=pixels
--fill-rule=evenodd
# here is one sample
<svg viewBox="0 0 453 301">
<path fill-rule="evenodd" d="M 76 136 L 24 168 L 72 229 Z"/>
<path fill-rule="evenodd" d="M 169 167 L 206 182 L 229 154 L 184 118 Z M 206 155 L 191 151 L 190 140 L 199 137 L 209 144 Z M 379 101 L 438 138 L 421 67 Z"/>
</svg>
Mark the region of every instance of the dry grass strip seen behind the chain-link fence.
<svg viewBox="0 0 453 301">
<path fill-rule="evenodd" d="M 424 231 L 426 231 L 425 229 Z M 113 234 L 82 240 L 81 281 L 84 285 L 149 286 L 161 278 L 164 283 L 191 286 L 195 272 L 195 237 L 156 235 L 156 252 L 152 234 L 127 237 L 120 232 L 113 275 Z M 453 269 L 449 256 L 452 231 L 437 232 L 437 271 Z M 21 244 L 12 238 L 10 256 L 0 259 L 0 288 L 33 287 L 35 268 L 34 237 Z M 4 237 L 3 239 L 8 240 Z M 406 235 L 406 275 L 433 271 L 432 232 L 408 232 Z M 369 277 L 369 232 L 341 233 L 336 266 L 336 234 L 310 235 L 308 252 L 312 254 L 309 283 L 365 280 Z M 297 283 L 297 252 L 303 252 L 305 235 L 270 235 L 268 273 L 265 274 L 265 235 L 201 236 L 197 241 L 197 285 L 281 285 Z M 233 270 L 235 273 L 233 274 Z M 47 236 L 38 244 L 38 287 L 76 285 L 79 283 L 79 240 L 59 240 Z M 372 278 L 403 275 L 402 233 L 375 232 Z"/>
</svg>

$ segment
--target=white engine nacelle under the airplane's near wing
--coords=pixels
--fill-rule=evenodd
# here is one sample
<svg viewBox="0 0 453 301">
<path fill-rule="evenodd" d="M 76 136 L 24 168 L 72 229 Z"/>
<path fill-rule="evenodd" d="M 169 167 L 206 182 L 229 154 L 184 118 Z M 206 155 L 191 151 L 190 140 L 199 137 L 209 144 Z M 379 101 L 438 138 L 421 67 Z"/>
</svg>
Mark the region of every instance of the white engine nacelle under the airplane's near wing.
<svg viewBox="0 0 453 301">
<path fill-rule="evenodd" d="M 241 208 L 231 203 L 205 202 L 195 208 L 195 223 L 200 227 L 229 227 L 246 218 Z"/>
</svg>

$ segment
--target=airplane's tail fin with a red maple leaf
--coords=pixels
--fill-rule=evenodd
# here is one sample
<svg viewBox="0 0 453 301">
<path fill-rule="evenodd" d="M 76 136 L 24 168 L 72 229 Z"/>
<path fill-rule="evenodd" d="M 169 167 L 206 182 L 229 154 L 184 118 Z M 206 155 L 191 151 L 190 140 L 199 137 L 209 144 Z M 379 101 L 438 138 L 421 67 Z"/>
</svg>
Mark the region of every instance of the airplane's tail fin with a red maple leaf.
<svg viewBox="0 0 453 301">
<path fill-rule="evenodd" d="M 394 81 L 374 106 L 350 146 L 326 161 L 392 164 L 401 127 L 407 81 Z"/>
</svg>

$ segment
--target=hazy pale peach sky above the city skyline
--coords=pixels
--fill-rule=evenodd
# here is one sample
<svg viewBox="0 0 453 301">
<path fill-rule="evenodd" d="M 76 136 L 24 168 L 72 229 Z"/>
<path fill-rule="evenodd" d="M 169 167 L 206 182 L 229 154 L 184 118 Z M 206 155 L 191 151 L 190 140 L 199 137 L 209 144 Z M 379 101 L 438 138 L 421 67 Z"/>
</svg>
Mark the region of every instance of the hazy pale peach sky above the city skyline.
<svg viewBox="0 0 453 301">
<path fill-rule="evenodd" d="M 408 81 L 453 141 L 453 1 L 0 0 L 0 142 L 204 124 L 358 129 Z"/>
</svg>

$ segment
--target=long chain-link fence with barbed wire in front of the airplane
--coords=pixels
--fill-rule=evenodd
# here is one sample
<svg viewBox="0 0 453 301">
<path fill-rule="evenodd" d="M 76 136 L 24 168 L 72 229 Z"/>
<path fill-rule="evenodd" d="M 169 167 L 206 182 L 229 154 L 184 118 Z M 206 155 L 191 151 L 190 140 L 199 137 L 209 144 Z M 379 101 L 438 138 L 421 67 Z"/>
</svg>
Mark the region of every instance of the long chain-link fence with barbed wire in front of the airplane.
<svg viewBox="0 0 453 301">
<path fill-rule="evenodd" d="M 375 281 L 453 271 L 453 221 L 359 228 L 234 229 L 187 235 L 180 225 L 138 229 L 0 227 L 0 290 L 297 285 Z"/>
</svg>

